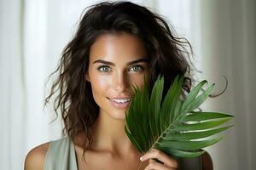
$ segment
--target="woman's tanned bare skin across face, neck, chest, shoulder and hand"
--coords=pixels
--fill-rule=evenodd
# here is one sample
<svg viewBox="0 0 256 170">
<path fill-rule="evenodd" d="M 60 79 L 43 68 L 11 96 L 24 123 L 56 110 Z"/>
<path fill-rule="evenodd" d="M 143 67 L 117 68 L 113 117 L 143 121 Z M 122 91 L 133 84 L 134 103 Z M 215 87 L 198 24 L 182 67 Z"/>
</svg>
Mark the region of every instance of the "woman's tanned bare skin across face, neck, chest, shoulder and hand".
<svg viewBox="0 0 256 170">
<path fill-rule="evenodd" d="M 160 150 L 141 154 L 125 134 L 125 111 L 113 106 L 109 98 L 131 98 L 133 85 L 143 87 L 143 77 L 148 74 L 147 52 L 143 43 L 126 33 L 104 34 L 90 47 L 89 69 L 85 78 L 91 83 L 92 94 L 99 105 L 99 116 L 91 128 L 93 146 L 85 152 L 84 137 L 74 139 L 79 170 L 94 169 L 140 169 L 175 170 L 177 161 Z M 25 161 L 25 169 L 44 169 L 44 158 L 49 143 L 31 150 Z M 143 157 L 142 157 L 143 156 Z M 142 157 L 142 158 L 141 158 Z M 141 158 L 141 160 L 140 160 Z M 153 160 L 158 159 L 159 163 Z"/>
</svg>

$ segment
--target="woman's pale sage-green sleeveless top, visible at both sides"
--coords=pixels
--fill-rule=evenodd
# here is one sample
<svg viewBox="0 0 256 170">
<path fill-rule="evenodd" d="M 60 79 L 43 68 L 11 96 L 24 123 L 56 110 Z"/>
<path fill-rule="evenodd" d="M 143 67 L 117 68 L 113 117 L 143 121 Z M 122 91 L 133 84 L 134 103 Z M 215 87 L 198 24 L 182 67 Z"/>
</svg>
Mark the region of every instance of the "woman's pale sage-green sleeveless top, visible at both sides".
<svg viewBox="0 0 256 170">
<path fill-rule="evenodd" d="M 179 170 L 202 170 L 201 156 L 179 158 Z M 72 139 L 69 137 L 51 141 L 47 150 L 44 170 L 78 170 Z"/>
</svg>

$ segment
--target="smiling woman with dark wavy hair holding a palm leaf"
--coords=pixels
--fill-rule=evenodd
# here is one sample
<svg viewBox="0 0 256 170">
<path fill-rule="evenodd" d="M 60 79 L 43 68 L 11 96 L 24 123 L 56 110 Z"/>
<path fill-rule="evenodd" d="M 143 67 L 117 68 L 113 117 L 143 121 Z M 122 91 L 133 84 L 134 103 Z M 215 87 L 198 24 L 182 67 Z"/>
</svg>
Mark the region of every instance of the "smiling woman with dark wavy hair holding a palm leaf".
<svg viewBox="0 0 256 170">
<path fill-rule="evenodd" d="M 55 71 L 60 76 L 46 99 L 48 103 L 57 93 L 55 111 L 61 109 L 67 137 L 31 150 L 25 169 L 182 167 L 160 150 L 139 153 L 124 126 L 133 85 L 142 88 L 144 76 L 152 88 L 159 74 L 165 77 L 166 87 L 177 75 L 186 75 L 183 94 L 189 92 L 186 44 L 190 48 L 185 39 L 174 37 L 159 15 L 137 4 L 98 3 L 90 7 L 63 51 Z"/>
</svg>

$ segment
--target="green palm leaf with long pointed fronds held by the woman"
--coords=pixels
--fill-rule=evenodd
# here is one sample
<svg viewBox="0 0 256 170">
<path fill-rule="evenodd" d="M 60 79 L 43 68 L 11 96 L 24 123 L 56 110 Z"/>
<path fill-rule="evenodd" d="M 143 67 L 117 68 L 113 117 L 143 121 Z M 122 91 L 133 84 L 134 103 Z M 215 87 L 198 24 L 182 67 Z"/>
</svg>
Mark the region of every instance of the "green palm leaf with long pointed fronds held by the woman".
<svg viewBox="0 0 256 170">
<path fill-rule="evenodd" d="M 135 99 L 131 100 L 125 114 L 125 133 L 131 143 L 141 153 L 153 148 L 163 150 L 170 156 L 194 157 L 204 153 L 202 148 L 217 143 L 223 137 L 209 138 L 229 127 L 223 125 L 233 116 L 218 113 L 194 111 L 211 94 L 214 84 L 206 90 L 200 82 L 184 100 L 180 98 L 183 77 L 176 77 L 165 98 L 162 98 L 164 78 L 158 77 L 150 98 L 148 83 L 144 80 L 140 91 L 135 89 Z M 203 91 L 201 94 L 200 92 Z"/>
</svg>

